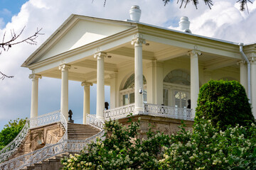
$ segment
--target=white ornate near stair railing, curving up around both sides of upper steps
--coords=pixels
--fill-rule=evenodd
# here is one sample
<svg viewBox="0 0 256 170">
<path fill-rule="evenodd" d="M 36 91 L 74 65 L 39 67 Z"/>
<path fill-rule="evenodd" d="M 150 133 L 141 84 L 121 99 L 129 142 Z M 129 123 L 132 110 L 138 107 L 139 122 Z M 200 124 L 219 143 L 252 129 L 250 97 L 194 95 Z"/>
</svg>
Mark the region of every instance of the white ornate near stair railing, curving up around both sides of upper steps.
<svg viewBox="0 0 256 170">
<path fill-rule="evenodd" d="M 60 123 L 63 124 L 64 128 L 68 128 L 68 124 L 65 122 L 64 116 L 60 113 Z M 66 126 L 65 126 L 66 123 Z M 58 154 L 63 154 L 65 152 L 80 152 L 81 149 L 87 147 L 87 144 L 91 140 L 97 140 L 97 137 L 104 135 L 104 122 L 103 120 L 97 119 L 93 115 L 87 115 L 87 124 L 94 126 L 95 128 L 100 129 L 101 131 L 96 135 L 87 138 L 86 140 L 68 140 L 68 136 L 63 135 L 62 139 L 54 145 L 47 145 L 41 149 L 38 149 L 34 152 L 23 154 L 19 157 L 11 159 L 3 164 L 0 164 L 0 169 L 22 169 L 25 166 L 30 166 L 32 164 L 43 161 L 50 157 L 54 157 Z M 65 131 L 67 132 L 67 130 Z"/>
</svg>

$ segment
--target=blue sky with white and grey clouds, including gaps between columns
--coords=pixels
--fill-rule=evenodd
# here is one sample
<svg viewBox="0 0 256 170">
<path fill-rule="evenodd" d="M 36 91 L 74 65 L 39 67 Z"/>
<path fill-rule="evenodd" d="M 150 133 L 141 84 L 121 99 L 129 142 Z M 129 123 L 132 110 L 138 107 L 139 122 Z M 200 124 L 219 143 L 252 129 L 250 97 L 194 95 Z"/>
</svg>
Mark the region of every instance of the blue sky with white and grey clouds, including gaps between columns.
<svg viewBox="0 0 256 170">
<path fill-rule="evenodd" d="M 176 1 L 164 6 L 161 0 L 0 0 L 0 40 L 4 31 L 11 29 L 18 33 L 24 26 L 21 38 L 43 28 L 37 38 L 38 45 L 26 43 L 11 47 L 0 55 L 0 71 L 14 75 L 13 79 L 0 80 L 0 130 L 10 119 L 30 116 L 31 71 L 20 67 L 26 58 L 36 50 L 71 13 L 126 20 L 129 8 L 139 5 L 142 9 L 141 22 L 166 28 L 178 27 L 181 16 L 188 16 L 192 33 L 220 38 L 233 42 L 250 43 L 256 41 L 256 1 L 248 4 L 247 11 L 239 11 L 237 0 L 213 0 L 210 10 L 199 0 L 198 10 L 192 4 L 179 8 Z M 91 113 L 95 113 L 96 87 L 91 88 Z M 110 101 L 110 88 L 106 87 L 106 101 Z M 73 119 L 82 123 L 82 86 L 79 82 L 69 82 L 69 108 L 73 110 Z M 45 78 L 39 80 L 38 114 L 42 115 L 60 108 L 60 80 Z"/>
</svg>

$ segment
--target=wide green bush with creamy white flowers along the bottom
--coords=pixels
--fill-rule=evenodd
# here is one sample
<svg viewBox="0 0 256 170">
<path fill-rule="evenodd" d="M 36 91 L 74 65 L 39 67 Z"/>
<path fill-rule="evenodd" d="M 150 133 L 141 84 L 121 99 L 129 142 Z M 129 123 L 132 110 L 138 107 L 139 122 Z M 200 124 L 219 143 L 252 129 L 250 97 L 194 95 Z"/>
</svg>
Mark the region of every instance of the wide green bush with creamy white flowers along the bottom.
<svg viewBox="0 0 256 170">
<path fill-rule="evenodd" d="M 193 132 L 185 125 L 170 137 L 149 130 L 141 141 L 136 139 L 139 122 L 129 121 L 128 128 L 106 122 L 106 139 L 63 159 L 63 169 L 256 169 L 254 123 L 222 131 L 202 118 Z"/>
</svg>

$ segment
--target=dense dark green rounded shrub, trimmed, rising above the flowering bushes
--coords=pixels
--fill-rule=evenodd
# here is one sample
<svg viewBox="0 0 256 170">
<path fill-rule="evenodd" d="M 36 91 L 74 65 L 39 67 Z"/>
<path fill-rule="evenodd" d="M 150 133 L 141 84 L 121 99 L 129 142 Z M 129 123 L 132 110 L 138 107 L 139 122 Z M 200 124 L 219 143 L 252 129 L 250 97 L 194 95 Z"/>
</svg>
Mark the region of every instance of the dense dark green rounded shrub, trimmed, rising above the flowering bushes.
<svg viewBox="0 0 256 170">
<path fill-rule="evenodd" d="M 195 123 L 203 117 L 223 130 L 226 125 L 245 125 L 246 120 L 254 121 L 245 89 L 238 81 L 210 80 L 201 87 Z"/>
</svg>

